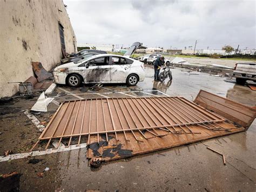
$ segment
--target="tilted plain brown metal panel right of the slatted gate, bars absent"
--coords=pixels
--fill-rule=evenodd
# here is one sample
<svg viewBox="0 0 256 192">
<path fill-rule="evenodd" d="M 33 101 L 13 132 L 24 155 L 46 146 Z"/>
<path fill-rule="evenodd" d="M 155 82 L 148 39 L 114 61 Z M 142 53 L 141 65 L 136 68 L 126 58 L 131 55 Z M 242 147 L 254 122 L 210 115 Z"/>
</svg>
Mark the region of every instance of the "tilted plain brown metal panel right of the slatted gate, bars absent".
<svg viewBox="0 0 256 192">
<path fill-rule="evenodd" d="M 212 110 L 247 129 L 256 117 L 256 110 L 250 106 L 236 103 L 230 99 L 208 93 L 204 90 L 199 91 L 194 103 L 208 110 Z"/>
</svg>

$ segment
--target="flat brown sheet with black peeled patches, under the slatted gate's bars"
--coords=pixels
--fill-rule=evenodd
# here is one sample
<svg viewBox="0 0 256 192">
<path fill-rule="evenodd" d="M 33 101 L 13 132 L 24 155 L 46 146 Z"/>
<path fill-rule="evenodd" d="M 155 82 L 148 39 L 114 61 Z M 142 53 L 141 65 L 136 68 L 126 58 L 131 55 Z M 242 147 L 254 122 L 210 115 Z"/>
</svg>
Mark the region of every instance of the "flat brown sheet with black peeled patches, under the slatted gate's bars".
<svg viewBox="0 0 256 192">
<path fill-rule="evenodd" d="M 143 153 L 149 153 L 153 151 L 163 150 L 166 148 L 176 147 L 180 145 L 185 144 L 191 144 L 194 142 L 214 138 L 214 137 L 220 137 L 225 136 L 232 133 L 238 133 L 241 131 L 245 131 L 244 127 L 235 127 L 231 123 L 227 122 L 219 122 L 216 123 L 217 126 L 224 127 L 224 129 L 216 131 L 212 129 L 204 129 L 201 126 L 198 125 L 192 125 L 190 126 L 190 129 L 193 132 L 200 132 L 201 134 L 173 134 L 168 130 L 158 129 L 157 132 L 159 134 L 167 134 L 164 137 L 155 137 L 150 132 L 146 132 L 146 137 L 151 137 L 151 139 L 145 139 L 140 136 L 140 133 L 134 132 L 136 134 L 136 137 L 140 138 L 143 142 L 136 142 L 131 132 L 127 132 L 126 137 L 129 139 L 129 141 L 126 141 L 126 138 L 124 137 L 124 134 L 118 133 L 118 139 L 114 138 L 113 134 L 110 134 L 111 139 L 107 143 L 107 146 L 100 146 L 97 150 L 97 153 L 93 151 L 90 146 L 87 150 L 87 158 L 90 159 L 91 165 L 93 165 L 93 162 L 96 162 L 99 160 L 100 162 L 103 161 L 111 161 L 116 160 L 120 158 L 125 158 L 133 155 L 143 154 Z M 207 126 L 212 126 L 210 124 L 207 124 Z M 177 128 L 177 130 L 180 130 L 180 127 Z M 226 131 L 228 130 L 228 131 Z M 91 138 L 92 144 L 97 143 L 97 137 L 92 136 Z M 100 141 L 104 141 L 103 138 L 100 138 Z M 122 154 L 118 153 L 119 150 L 129 151 L 130 154 Z M 108 151 L 108 154 L 105 154 L 105 152 Z"/>
</svg>

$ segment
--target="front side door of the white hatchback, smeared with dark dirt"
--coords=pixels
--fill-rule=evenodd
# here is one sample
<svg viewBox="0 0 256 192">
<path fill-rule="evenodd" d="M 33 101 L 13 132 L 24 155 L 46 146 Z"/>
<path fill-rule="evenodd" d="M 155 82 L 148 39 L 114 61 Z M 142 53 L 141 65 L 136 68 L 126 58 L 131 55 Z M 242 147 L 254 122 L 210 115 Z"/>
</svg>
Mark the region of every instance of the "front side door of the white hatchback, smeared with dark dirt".
<svg viewBox="0 0 256 192">
<path fill-rule="evenodd" d="M 93 58 L 84 63 L 83 77 L 85 83 L 110 82 L 110 56 Z"/>
</svg>

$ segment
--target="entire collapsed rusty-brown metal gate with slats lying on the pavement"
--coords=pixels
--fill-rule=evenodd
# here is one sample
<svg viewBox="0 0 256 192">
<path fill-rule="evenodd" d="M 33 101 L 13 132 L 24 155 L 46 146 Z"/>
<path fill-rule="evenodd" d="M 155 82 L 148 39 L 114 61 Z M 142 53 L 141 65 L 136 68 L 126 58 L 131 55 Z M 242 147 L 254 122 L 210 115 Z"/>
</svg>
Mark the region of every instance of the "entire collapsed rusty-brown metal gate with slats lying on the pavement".
<svg viewBox="0 0 256 192">
<path fill-rule="evenodd" d="M 250 114 L 251 120 L 255 118 L 255 110 L 253 109 L 253 113 L 252 108 L 214 96 L 200 91 L 195 102 L 204 107 L 211 106 L 211 110 L 216 109 L 213 106 L 221 105 L 224 112 L 219 109 L 215 110 L 217 113 L 213 113 L 183 97 L 68 101 L 60 105 L 31 150 L 44 140 L 48 142 L 42 142 L 41 149 L 47 149 L 51 140 L 56 138 L 59 141 L 58 146 L 62 140 L 65 140 L 66 146 L 70 146 L 72 141 L 75 141 L 72 144 L 77 145 L 86 142 L 87 158 L 91 165 L 97 165 L 102 161 L 245 131 L 245 127 L 225 121 L 225 108 L 232 109 L 233 113 L 242 109 L 240 115 Z M 212 101 L 208 101 L 209 99 Z M 223 101 L 225 102 L 221 103 Z M 97 149 L 92 146 L 97 146 Z"/>
</svg>

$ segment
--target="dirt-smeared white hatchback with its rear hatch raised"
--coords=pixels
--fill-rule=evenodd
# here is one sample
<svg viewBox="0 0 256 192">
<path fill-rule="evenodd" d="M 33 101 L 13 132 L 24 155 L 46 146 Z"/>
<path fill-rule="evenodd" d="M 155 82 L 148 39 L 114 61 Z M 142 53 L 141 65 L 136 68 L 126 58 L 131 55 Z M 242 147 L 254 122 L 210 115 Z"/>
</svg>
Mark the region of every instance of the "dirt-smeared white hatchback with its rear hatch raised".
<svg viewBox="0 0 256 192">
<path fill-rule="evenodd" d="M 71 87 L 79 87 L 81 83 L 126 83 L 135 86 L 145 79 L 144 63 L 129 56 L 140 47 L 143 46 L 135 42 L 124 56 L 98 54 L 80 62 L 58 66 L 53 71 L 55 82 Z"/>
</svg>

